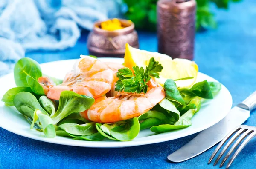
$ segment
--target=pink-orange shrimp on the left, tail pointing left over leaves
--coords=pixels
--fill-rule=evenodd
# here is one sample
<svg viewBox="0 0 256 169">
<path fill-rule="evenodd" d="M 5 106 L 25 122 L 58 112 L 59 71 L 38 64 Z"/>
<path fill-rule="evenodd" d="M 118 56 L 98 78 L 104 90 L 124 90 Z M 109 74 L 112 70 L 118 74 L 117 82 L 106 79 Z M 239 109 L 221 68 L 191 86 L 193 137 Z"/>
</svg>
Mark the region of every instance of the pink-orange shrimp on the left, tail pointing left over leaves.
<svg viewBox="0 0 256 169">
<path fill-rule="evenodd" d="M 112 69 L 93 57 L 80 57 L 73 70 L 66 74 L 62 84 L 48 85 L 48 90 L 45 90 L 48 98 L 59 100 L 61 92 L 66 90 L 97 98 L 111 90 L 115 77 Z M 46 86 L 44 81 L 45 78 L 39 81 L 43 88 Z"/>
</svg>

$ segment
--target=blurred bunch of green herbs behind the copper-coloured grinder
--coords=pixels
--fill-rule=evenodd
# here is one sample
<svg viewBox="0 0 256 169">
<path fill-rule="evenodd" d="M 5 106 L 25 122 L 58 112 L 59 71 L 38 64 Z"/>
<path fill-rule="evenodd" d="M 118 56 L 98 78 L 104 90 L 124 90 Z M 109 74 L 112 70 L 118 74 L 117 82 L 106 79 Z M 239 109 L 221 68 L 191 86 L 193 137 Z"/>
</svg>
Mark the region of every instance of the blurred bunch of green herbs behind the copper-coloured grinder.
<svg viewBox="0 0 256 169">
<path fill-rule="evenodd" d="M 210 10 L 210 4 L 214 3 L 218 8 L 228 9 L 230 2 L 239 2 L 241 0 L 196 0 L 196 29 L 216 28 L 217 23 L 214 20 L 214 14 Z M 132 20 L 136 29 L 149 31 L 156 30 L 157 24 L 157 0 L 123 0 L 128 6 L 125 15 Z"/>
</svg>

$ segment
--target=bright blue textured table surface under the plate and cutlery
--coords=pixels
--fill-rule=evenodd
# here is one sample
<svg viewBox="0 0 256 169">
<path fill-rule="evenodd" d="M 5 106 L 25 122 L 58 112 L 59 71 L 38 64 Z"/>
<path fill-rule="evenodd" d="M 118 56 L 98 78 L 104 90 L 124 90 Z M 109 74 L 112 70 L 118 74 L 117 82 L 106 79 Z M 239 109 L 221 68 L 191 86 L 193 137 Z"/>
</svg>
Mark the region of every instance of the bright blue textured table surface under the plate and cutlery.
<svg viewBox="0 0 256 169">
<path fill-rule="evenodd" d="M 200 72 L 223 83 L 233 97 L 233 106 L 256 90 L 256 1 L 232 4 L 230 11 L 216 10 L 218 29 L 196 34 L 195 62 Z M 39 63 L 74 59 L 88 54 L 87 32 L 74 48 L 61 52 L 26 54 Z M 156 33 L 139 32 L 140 49 L 157 51 Z M 244 123 L 256 126 L 256 112 Z M 44 143 L 0 128 L 0 168 L 214 168 L 207 161 L 214 148 L 182 163 L 166 157 L 197 134 L 177 140 L 120 149 L 91 149 Z M 230 169 L 256 168 L 256 139 L 252 140 Z M 218 166 L 216 166 L 218 167 Z M 215 167 L 215 168 L 216 168 Z"/>
</svg>

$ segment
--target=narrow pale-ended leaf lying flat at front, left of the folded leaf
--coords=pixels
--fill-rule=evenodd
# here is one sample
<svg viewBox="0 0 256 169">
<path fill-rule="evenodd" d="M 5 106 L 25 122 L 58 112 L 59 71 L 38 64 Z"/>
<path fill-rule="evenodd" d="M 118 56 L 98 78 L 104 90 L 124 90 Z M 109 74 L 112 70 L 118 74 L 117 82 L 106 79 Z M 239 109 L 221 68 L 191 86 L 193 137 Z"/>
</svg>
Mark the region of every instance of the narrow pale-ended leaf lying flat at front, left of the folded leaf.
<svg viewBox="0 0 256 169">
<path fill-rule="evenodd" d="M 73 135 L 91 135 L 98 132 L 95 126 L 95 123 L 86 123 L 86 124 L 74 124 L 74 123 L 64 123 L 59 125 L 61 129 L 65 132 Z"/>
</svg>

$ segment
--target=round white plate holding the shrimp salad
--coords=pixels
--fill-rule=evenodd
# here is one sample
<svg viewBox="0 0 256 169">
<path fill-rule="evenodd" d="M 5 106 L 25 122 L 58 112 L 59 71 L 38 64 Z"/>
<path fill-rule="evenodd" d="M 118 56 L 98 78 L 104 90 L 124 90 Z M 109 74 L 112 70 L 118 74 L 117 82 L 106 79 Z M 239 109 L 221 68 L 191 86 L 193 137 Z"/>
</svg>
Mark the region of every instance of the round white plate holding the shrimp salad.
<svg viewBox="0 0 256 169">
<path fill-rule="evenodd" d="M 103 61 L 112 61 L 123 63 L 123 59 L 116 58 L 101 58 Z M 42 72 L 52 77 L 64 78 L 66 72 L 68 72 L 75 60 L 61 60 L 50 63 L 41 64 Z M 217 81 L 212 77 L 203 73 L 198 73 L 198 81 L 208 80 Z M 5 92 L 12 87 L 15 87 L 13 74 L 7 74 L 0 78 L 0 98 L 3 97 Z M 219 94 L 207 104 L 202 105 L 201 110 L 192 118 L 192 126 L 179 129 L 172 132 L 166 132 L 161 134 L 155 134 L 149 129 L 143 130 L 132 141 L 119 142 L 113 140 L 105 141 L 86 141 L 86 140 L 73 140 L 66 137 L 46 138 L 42 132 L 38 132 L 35 129 L 30 130 L 29 123 L 25 117 L 21 115 L 14 106 L 5 106 L 3 102 L 0 102 L 0 127 L 13 132 L 17 135 L 29 137 L 35 140 L 41 140 L 49 143 L 70 145 L 70 146 L 82 146 L 82 147 L 94 147 L 94 148 L 118 148 L 129 146 L 140 146 L 145 144 L 160 143 L 163 141 L 174 140 L 177 138 L 192 135 L 196 132 L 200 132 L 204 129 L 213 126 L 223 119 L 229 112 L 232 106 L 232 97 L 230 92 L 225 86 L 222 85 L 222 89 Z"/>
</svg>

